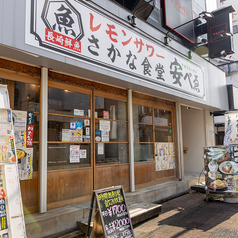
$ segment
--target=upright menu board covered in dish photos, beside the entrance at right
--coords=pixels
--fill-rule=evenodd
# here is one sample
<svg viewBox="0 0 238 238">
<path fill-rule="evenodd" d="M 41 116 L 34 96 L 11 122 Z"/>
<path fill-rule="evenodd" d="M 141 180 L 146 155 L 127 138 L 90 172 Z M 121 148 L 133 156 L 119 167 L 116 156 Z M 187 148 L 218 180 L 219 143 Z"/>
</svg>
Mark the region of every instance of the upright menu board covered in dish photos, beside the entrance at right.
<svg viewBox="0 0 238 238">
<path fill-rule="evenodd" d="M 205 190 L 238 196 L 237 146 L 212 146 L 204 148 Z"/>
</svg>

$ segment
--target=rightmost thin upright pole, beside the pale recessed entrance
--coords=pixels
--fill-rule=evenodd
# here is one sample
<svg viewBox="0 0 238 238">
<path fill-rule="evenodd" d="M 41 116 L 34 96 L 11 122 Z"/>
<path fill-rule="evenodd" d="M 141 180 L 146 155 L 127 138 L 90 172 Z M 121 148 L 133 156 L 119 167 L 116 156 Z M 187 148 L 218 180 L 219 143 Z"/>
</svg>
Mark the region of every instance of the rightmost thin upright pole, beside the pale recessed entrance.
<svg viewBox="0 0 238 238">
<path fill-rule="evenodd" d="M 178 147 L 178 171 L 179 180 L 184 180 L 184 157 L 183 157 L 183 135 L 182 135 L 182 113 L 181 103 L 176 102 L 176 128 Z"/>
</svg>

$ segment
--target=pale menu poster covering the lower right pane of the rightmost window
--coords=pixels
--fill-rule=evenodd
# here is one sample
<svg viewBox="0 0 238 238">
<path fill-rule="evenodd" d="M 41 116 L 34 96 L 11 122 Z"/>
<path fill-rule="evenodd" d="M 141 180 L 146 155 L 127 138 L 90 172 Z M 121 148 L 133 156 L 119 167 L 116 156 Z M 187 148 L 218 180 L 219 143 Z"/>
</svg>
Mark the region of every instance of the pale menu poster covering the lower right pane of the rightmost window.
<svg viewBox="0 0 238 238">
<path fill-rule="evenodd" d="M 173 143 L 155 144 L 156 171 L 175 169 L 175 150 Z"/>
</svg>

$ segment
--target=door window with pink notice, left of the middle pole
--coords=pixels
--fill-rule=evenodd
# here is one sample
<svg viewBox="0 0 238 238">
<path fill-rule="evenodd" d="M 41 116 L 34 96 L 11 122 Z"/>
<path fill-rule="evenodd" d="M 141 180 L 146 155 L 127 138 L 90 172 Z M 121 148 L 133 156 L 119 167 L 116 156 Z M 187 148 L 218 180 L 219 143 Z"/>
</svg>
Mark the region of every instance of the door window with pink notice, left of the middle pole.
<svg viewBox="0 0 238 238">
<path fill-rule="evenodd" d="M 127 103 L 121 100 L 96 96 L 96 165 L 128 163 L 127 131 Z"/>
</svg>

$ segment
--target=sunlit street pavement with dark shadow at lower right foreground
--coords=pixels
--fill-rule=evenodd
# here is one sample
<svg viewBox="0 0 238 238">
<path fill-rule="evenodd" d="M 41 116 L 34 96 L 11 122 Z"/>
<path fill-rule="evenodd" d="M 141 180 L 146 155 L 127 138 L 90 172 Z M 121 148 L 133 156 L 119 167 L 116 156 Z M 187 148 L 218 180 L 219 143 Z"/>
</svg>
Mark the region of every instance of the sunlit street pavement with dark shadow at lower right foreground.
<svg viewBox="0 0 238 238">
<path fill-rule="evenodd" d="M 162 213 L 134 227 L 136 238 L 238 238 L 238 203 L 189 193 L 161 203 Z"/>
</svg>

